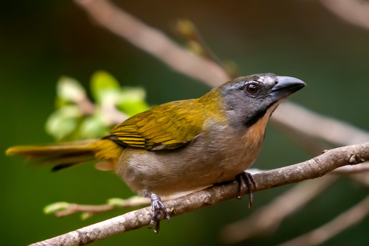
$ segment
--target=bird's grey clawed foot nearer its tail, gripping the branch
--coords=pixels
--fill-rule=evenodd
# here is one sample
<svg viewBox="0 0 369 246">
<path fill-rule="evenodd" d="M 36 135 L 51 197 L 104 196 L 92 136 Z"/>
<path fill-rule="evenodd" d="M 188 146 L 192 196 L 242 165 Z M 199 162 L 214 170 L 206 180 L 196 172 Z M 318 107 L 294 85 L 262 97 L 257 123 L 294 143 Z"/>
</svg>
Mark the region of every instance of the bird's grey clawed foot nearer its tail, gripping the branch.
<svg viewBox="0 0 369 246">
<path fill-rule="evenodd" d="M 156 226 L 155 226 L 155 233 L 159 233 L 160 230 L 160 221 L 161 221 L 161 213 L 160 211 L 163 211 L 166 219 L 168 219 L 168 221 L 170 221 L 170 216 L 168 214 L 168 212 L 166 211 L 166 207 L 163 204 L 163 202 L 161 201 L 160 197 L 154 193 L 152 193 L 151 191 L 146 191 L 145 193 L 145 197 L 150 198 L 151 200 L 151 221 L 150 221 L 150 225 L 149 225 L 149 229 L 152 228 L 152 226 L 154 226 L 155 221 L 156 221 Z"/>
</svg>

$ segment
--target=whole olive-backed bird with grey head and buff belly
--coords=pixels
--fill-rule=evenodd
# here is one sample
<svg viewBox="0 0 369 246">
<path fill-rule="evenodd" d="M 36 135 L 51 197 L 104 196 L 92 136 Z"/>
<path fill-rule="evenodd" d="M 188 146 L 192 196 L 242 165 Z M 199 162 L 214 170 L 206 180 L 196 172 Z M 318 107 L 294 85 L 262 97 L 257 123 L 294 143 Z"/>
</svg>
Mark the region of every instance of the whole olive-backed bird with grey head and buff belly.
<svg viewBox="0 0 369 246">
<path fill-rule="evenodd" d="M 101 139 L 15 146 L 6 154 L 54 165 L 54 171 L 100 160 L 132 191 L 151 199 L 149 228 L 156 222 L 158 233 L 161 212 L 170 220 L 162 196 L 237 177 L 240 187 L 246 181 L 251 203 L 255 181 L 245 170 L 262 148 L 268 119 L 281 101 L 304 86 L 300 79 L 273 73 L 238 77 L 200 98 L 136 114 Z"/>
</svg>

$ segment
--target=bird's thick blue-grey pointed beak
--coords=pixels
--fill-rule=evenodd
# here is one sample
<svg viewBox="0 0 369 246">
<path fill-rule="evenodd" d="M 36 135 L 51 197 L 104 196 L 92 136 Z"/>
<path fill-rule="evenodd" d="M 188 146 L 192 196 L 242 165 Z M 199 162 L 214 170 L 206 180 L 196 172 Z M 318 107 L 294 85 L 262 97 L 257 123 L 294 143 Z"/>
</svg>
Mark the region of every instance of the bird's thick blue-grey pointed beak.
<svg viewBox="0 0 369 246">
<path fill-rule="evenodd" d="M 306 84 L 302 80 L 294 77 L 277 76 L 277 83 L 270 90 L 269 95 L 272 96 L 272 101 L 276 102 L 289 97 L 304 86 L 306 86 Z"/>
</svg>

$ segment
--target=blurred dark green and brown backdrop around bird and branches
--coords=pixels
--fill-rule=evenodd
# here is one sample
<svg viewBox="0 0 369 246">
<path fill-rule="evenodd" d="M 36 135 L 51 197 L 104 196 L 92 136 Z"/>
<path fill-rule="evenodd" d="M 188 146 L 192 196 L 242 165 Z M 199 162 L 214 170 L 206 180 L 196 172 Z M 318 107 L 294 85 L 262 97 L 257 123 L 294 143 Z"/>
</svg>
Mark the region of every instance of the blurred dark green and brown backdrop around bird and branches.
<svg viewBox="0 0 369 246">
<path fill-rule="evenodd" d="M 354 0 L 355 1 L 355 0 Z M 346 22 L 320 1 L 115 1 L 146 24 L 183 43 L 173 28 L 177 18 L 196 24 L 207 45 L 222 60 L 238 64 L 241 75 L 273 72 L 297 77 L 307 87 L 290 100 L 323 115 L 369 130 L 369 31 Z M 362 1 L 362 4 L 367 4 Z M 368 12 L 369 14 L 369 12 Z M 96 70 L 106 70 L 122 85 L 141 86 L 150 105 L 197 98 L 211 88 L 101 28 L 73 1 L 7 1 L 0 7 L 0 152 L 14 145 L 53 142 L 45 122 L 55 108 L 57 80 L 70 76 L 89 90 Z M 272 169 L 313 155 L 268 126 L 265 144 L 253 167 Z M 1 244 L 27 245 L 87 226 L 131 208 L 102 213 L 85 221 L 42 213 L 52 202 L 102 204 L 133 193 L 114 173 L 92 164 L 50 173 L 23 159 L 0 155 Z M 190 212 L 162 222 L 155 235 L 145 228 L 94 245 L 222 245 L 223 226 L 246 218 L 293 185 Z M 368 188 L 342 178 L 275 233 L 237 245 L 276 245 L 335 218 L 362 200 Z M 252 227 L 253 225 L 248 225 Z M 367 245 L 364 218 L 323 245 Z"/>
</svg>

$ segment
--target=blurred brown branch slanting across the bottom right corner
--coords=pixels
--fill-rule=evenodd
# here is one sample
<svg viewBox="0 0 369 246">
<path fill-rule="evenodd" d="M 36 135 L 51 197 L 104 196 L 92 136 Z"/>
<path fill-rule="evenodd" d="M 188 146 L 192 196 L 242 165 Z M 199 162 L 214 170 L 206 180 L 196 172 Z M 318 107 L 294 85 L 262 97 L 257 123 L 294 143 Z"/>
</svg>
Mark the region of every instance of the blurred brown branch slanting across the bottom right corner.
<svg viewBox="0 0 369 246">
<path fill-rule="evenodd" d="M 344 229 L 360 222 L 369 214 L 369 196 L 350 208 L 348 211 L 332 219 L 329 223 L 317 228 L 305 235 L 301 235 L 279 246 L 313 246 L 319 245 Z"/>
</svg>

